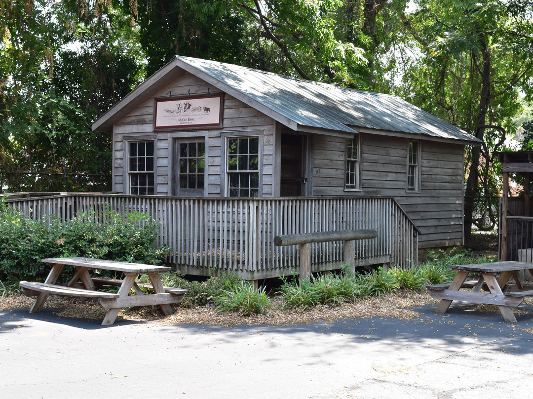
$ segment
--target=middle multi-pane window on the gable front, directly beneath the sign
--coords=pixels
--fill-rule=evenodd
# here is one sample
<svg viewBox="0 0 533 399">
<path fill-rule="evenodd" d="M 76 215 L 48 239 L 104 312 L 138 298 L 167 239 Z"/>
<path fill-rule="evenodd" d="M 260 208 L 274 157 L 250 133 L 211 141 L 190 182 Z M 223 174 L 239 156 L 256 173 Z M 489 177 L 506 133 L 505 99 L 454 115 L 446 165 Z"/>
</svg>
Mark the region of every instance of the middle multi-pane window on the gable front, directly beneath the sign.
<svg viewBox="0 0 533 399">
<path fill-rule="evenodd" d="M 179 189 L 198 190 L 199 195 L 204 193 L 205 172 L 205 143 L 180 142 L 179 143 Z"/>
</svg>

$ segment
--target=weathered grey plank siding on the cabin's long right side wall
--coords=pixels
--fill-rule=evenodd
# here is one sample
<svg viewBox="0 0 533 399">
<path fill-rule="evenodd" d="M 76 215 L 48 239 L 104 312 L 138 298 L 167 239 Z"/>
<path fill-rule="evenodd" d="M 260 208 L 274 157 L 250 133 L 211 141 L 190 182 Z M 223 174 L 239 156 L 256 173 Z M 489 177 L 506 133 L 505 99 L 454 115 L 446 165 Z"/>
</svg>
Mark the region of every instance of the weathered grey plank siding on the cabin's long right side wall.
<svg viewBox="0 0 533 399">
<path fill-rule="evenodd" d="M 392 196 L 421 230 L 419 248 L 463 243 L 464 147 L 421 142 L 420 191 L 407 187 L 409 139 L 361 134 L 360 190 L 344 190 L 346 141 L 313 138 L 315 196 Z"/>
</svg>

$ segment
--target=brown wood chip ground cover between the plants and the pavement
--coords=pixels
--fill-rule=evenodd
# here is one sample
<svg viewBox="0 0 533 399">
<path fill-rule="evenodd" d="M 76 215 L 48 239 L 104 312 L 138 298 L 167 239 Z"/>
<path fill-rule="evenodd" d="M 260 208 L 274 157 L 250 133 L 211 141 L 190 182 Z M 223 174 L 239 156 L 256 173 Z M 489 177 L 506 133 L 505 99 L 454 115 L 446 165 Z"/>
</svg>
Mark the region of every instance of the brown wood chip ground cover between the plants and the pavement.
<svg viewBox="0 0 533 399">
<path fill-rule="evenodd" d="M 29 308 L 34 298 L 27 298 L 22 294 L 11 294 L 0 299 L 0 310 L 12 308 Z M 437 304 L 439 301 L 431 298 L 427 293 L 413 291 L 399 291 L 381 297 L 359 299 L 342 305 L 320 305 L 302 310 L 300 308 L 282 309 L 284 301 L 273 298 L 273 305 L 262 315 L 241 316 L 236 313 L 220 313 L 212 306 L 195 308 L 174 307 L 174 314 L 162 316 L 156 307 L 138 307 L 123 309 L 117 320 L 154 321 L 161 324 L 209 324 L 209 325 L 295 325 L 310 322 L 334 321 L 345 318 L 390 317 L 410 319 L 421 314 L 411 309 L 416 306 Z M 533 299 L 525 301 L 533 305 Z M 81 317 L 103 319 L 106 310 L 95 299 L 50 296 L 46 301 L 46 308 L 56 309 L 59 317 Z M 473 307 L 479 312 L 499 315 L 499 310 L 492 305 L 477 305 Z M 524 309 L 513 309 L 513 312 L 529 313 Z"/>
</svg>

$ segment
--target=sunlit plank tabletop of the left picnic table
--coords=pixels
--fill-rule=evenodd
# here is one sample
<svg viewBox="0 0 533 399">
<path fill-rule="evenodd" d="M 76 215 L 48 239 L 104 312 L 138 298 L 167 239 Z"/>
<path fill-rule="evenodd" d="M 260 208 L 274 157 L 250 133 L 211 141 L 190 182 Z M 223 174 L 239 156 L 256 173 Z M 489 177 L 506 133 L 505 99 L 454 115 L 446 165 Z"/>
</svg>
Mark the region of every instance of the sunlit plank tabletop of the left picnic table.
<svg viewBox="0 0 533 399">
<path fill-rule="evenodd" d="M 43 262 L 52 265 L 71 265 L 86 267 L 88 269 L 116 270 L 123 273 L 162 273 L 172 270 L 167 266 L 144 265 L 130 262 L 118 262 L 114 260 L 102 260 L 91 258 L 45 258 Z"/>
</svg>

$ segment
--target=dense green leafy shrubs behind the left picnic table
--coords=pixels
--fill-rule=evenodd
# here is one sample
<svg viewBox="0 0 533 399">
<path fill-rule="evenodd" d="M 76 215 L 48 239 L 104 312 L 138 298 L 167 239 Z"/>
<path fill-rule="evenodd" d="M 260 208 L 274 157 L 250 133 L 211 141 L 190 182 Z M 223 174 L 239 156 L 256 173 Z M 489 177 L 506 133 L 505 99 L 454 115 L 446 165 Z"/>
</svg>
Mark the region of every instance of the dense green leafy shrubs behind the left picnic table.
<svg viewBox="0 0 533 399">
<path fill-rule="evenodd" d="M 38 279 L 49 272 L 41 259 L 55 257 L 163 264 L 169 249 L 155 249 L 155 221 L 143 217 L 142 223 L 133 222 L 110 211 L 106 219 L 98 222 L 90 213 L 63 223 L 55 217 L 33 220 L 0 204 L 0 276 Z"/>
</svg>

